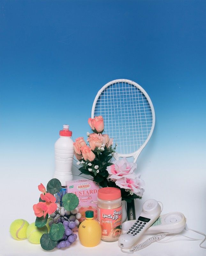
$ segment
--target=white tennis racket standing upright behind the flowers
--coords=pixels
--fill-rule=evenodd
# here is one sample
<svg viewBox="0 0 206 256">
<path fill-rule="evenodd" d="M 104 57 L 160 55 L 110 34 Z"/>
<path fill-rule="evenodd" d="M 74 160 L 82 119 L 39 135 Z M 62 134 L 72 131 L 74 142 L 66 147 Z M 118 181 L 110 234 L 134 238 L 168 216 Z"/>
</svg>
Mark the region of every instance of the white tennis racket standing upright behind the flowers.
<svg viewBox="0 0 206 256">
<path fill-rule="evenodd" d="M 145 90 L 127 79 L 105 84 L 97 93 L 92 118 L 102 116 L 104 131 L 117 143 L 114 158 L 133 157 L 137 161 L 155 126 L 155 111 Z M 127 203 L 128 220 L 134 220 L 134 200 Z"/>
</svg>

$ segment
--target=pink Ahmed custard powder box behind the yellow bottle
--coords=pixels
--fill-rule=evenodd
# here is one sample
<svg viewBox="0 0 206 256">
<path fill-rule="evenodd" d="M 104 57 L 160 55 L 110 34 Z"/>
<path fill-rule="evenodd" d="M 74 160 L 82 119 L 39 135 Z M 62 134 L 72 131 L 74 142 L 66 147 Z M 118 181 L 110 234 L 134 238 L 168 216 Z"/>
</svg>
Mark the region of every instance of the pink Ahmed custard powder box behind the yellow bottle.
<svg viewBox="0 0 206 256">
<path fill-rule="evenodd" d="M 79 198 L 79 212 L 82 222 L 86 219 L 85 212 L 94 211 L 94 219 L 97 219 L 97 191 L 99 186 L 92 180 L 70 180 L 66 181 L 67 193 L 73 193 Z"/>
</svg>

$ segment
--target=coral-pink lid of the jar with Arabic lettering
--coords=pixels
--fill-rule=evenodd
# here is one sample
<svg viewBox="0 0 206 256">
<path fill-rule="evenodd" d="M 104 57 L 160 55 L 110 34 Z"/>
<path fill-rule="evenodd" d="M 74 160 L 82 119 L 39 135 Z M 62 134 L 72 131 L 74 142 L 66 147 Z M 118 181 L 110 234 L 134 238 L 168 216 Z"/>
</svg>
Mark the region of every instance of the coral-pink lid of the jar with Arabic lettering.
<svg viewBox="0 0 206 256">
<path fill-rule="evenodd" d="M 97 194 L 102 200 L 115 200 L 121 197 L 121 190 L 119 188 L 100 188 Z"/>
</svg>

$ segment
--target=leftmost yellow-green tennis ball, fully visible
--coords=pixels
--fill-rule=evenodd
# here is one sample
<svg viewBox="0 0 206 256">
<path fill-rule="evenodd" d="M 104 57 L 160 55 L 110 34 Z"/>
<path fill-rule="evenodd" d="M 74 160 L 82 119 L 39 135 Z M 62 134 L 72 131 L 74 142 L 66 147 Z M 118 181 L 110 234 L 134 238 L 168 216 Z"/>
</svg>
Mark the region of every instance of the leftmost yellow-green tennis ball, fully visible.
<svg viewBox="0 0 206 256">
<path fill-rule="evenodd" d="M 14 220 L 9 228 L 11 236 L 16 240 L 23 240 L 27 238 L 27 227 L 29 223 L 26 220 Z"/>
</svg>

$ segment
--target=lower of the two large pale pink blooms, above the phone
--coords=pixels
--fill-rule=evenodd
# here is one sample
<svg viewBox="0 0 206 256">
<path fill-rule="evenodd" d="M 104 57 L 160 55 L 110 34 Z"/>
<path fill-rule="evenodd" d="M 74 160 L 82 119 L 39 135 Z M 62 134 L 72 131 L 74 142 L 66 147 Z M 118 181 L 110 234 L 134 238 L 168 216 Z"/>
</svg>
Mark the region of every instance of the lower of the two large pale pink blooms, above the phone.
<svg viewBox="0 0 206 256">
<path fill-rule="evenodd" d="M 123 177 L 115 181 L 119 188 L 130 189 L 137 196 L 142 196 L 144 193 L 145 183 L 140 179 L 140 173 L 135 175 L 134 179 Z"/>
</svg>

